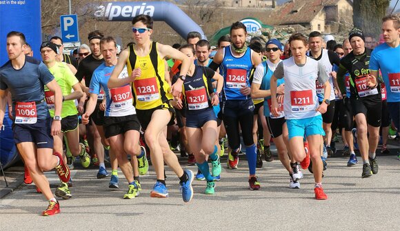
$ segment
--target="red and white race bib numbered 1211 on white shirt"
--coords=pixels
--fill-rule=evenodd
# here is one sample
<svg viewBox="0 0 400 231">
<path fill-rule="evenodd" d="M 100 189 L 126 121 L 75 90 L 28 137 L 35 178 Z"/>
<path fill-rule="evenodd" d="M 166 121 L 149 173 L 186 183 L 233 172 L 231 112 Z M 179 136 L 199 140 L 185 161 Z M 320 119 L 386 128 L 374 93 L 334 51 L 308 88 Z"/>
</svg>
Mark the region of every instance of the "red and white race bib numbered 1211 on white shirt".
<svg viewBox="0 0 400 231">
<path fill-rule="evenodd" d="M 315 109 L 312 90 L 291 91 L 290 103 L 292 112 L 308 112 Z"/>
</svg>

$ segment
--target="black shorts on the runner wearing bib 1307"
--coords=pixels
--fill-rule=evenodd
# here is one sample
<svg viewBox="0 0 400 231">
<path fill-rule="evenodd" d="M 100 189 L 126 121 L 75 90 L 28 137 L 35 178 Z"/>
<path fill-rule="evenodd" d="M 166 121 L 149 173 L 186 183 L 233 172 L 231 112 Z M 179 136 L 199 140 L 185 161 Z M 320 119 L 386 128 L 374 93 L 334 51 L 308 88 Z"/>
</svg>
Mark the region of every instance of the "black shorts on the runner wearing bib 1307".
<svg viewBox="0 0 400 231">
<path fill-rule="evenodd" d="M 104 137 L 110 138 L 118 134 L 125 134 L 129 130 L 139 132 L 140 123 L 136 114 L 130 114 L 125 117 L 104 117 Z"/>
</svg>

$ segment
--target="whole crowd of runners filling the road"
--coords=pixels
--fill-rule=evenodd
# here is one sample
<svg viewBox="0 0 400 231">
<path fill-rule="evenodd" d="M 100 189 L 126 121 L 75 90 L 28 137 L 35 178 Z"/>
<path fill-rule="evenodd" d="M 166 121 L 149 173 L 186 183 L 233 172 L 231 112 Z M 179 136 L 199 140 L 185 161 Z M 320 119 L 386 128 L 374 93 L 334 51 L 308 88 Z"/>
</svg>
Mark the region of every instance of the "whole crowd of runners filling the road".
<svg viewBox="0 0 400 231">
<path fill-rule="evenodd" d="M 194 179 L 205 181 L 205 194 L 215 193 L 226 152 L 229 169 L 246 154 L 249 188 L 259 190 L 256 170 L 273 161 L 271 142 L 289 187 L 300 188 L 301 169 L 308 169 L 315 199 L 328 199 L 323 171 L 337 153 L 337 137 L 348 166 L 358 163 L 359 150 L 366 178 L 378 173 L 379 142 L 389 153 L 389 130 L 399 130 L 399 17 L 384 17 L 381 27 L 374 50 L 360 28 L 344 41 L 326 41 L 317 31 L 248 41 L 239 21 L 215 47 L 199 32 L 190 32 L 187 44 L 168 46 L 150 39 L 152 18 L 140 14 L 124 50 L 95 30 L 89 46 L 72 55 L 63 54 L 60 37 L 41 43 L 42 61 L 32 58 L 36 51 L 24 34 L 12 31 L 10 61 L 0 68 L 0 125 L 5 116 L 13 120 L 24 181 L 49 201 L 43 215 L 60 212 L 56 197 L 72 197 L 75 159 L 83 168 L 98 166 L 97 179 L 110 176 L 110 188 L 119 188 L 120 168 L 128 181 L 124 199 L 142 192 L 150 160 L 157 176 L 150 197 L 168 197 L 166 163 L 189 202 Z M 197 174 L 181 167 L 175 150 L 197 165 Z M 399 155 L 398 147 L 392 152 Z M 43 174 L 54 168 L 61 181 L 55 196 Z"/>
</svg>

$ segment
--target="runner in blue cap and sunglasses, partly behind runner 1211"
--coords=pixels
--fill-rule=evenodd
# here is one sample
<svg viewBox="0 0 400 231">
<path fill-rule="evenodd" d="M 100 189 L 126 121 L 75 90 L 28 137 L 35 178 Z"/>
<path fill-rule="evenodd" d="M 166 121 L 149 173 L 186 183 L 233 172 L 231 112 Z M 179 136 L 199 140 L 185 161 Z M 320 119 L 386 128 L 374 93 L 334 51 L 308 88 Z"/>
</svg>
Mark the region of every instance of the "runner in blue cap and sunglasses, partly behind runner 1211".
<svg viewBox="0 0 400 231">
<path fill-rule="evenodd" d="M 277 146 L 278 157 L 283 167 L 288 170 L 290 175 L 289 188 L 300 188 L 299 179 L 303 178 L 303 173 L 299 169 L 297 162 L 291 157 L 292 154 L 289 149 L 288 140 L 288 127 L 286 125 L 285 114 L 281 112 L 279 117 L 274 117 L 270 112 L 271 92 L 270 92 L 270 79 L 274 70 L 281 63 L 281 43 L 278 39 L 270 39 L 266 43 L 267 61 L 257 66 L 254 72 L 254 79 L 252 81 L 252 97 L 264 97 L 263 110 L 268 123 L 268 129 Z M 277 81 L 278 94 L 283 97 L 284 94 L 284 80 Z M 280 106 L 283 106 L 281 103 Z M 290 159 L 289 159 L 290 157 Z"/>
</svg>

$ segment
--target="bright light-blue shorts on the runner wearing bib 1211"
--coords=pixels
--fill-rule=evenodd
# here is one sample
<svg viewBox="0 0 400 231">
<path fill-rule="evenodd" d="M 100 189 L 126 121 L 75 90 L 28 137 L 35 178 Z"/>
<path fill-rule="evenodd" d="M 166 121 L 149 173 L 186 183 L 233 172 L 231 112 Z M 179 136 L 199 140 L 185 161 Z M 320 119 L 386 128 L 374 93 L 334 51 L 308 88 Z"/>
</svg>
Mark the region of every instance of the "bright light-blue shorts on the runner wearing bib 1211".
<svg viewBox="0 0 400 231">
<path fill-rule="evenodd" d="M 289 139 L 292 139 L 292 137 L 304 137 L 304 134 L 306 134 L 306 137 L 313 134 L 325 135 L 322 128 L 321 114 L 306 119 L 287 119 L 286 125 L 288 125 Z"/>
</svg>

